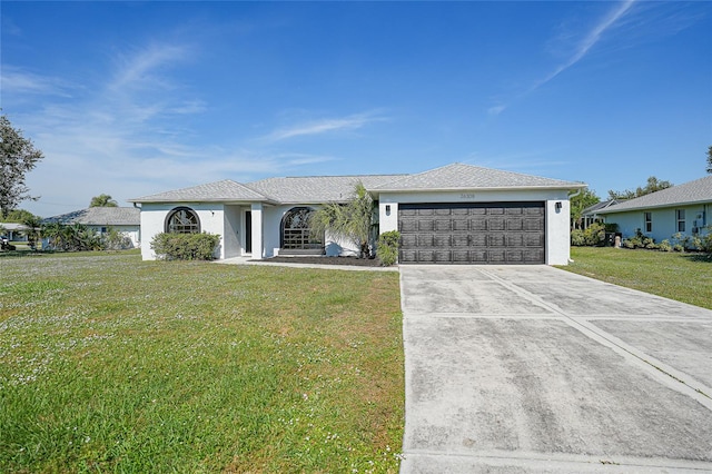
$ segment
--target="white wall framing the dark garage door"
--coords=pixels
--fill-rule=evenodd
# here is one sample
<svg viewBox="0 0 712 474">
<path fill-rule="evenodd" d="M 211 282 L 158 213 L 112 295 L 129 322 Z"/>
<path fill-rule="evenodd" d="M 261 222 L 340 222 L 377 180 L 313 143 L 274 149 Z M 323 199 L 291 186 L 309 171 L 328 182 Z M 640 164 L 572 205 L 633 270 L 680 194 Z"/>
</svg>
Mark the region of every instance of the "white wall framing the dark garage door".
<svg viewBox="0 0 712 474">
<path fill-rule="evenodd" d="M 384 192 L 378 198 L 379 233 L 398 230 L 399 203 L 512 203 L 544 201 L 546 223 L 546 264 L 567 265 L 571 250 L 568 192 L 562 190 L 494 190 L 443 192 Z M 562 207 L 556 210 L 556 203 Z M 390 206 L 388 213 L 387 206 Z"/>
</svg>

